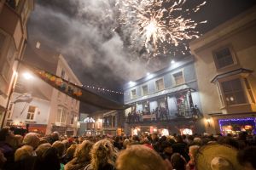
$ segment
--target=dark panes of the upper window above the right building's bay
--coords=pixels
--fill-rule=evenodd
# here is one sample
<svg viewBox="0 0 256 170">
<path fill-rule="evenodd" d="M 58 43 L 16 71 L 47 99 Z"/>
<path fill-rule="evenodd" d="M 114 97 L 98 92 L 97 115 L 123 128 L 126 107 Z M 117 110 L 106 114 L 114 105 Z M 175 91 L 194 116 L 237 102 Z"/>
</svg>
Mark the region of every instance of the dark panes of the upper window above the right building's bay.
<svg viewBox="0 0 256 170">
<path fill-rule="evenodd" d="M 214 60 L 218 69 L 225 66 L 234 65 L 234 59 L 230 52 L 230 48 L 223 48 L 214 53 Z"/>
</svg>

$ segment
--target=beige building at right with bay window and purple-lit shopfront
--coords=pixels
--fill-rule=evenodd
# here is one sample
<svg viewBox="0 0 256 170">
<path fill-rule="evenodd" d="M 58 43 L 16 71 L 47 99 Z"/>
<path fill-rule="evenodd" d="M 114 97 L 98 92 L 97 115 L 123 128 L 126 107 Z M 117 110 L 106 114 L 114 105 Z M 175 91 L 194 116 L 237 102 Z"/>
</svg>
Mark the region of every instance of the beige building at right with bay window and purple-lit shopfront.
<svg viewBox="0 0 256 170">
<path fill-rule="evenodd" d="M 256 8 L 190 42 L 208 133 L 256 133 Z"/>
</svg>

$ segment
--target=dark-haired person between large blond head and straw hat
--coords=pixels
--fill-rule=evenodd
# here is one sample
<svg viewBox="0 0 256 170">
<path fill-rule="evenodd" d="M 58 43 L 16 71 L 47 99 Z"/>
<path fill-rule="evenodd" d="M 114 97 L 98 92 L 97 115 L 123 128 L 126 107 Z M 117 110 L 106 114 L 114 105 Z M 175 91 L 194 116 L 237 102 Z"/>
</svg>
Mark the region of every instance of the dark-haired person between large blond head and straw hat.
<svg viewBox="0 0 256 170">
<path fill-rule="evenodd" d="M 186 160 L 179 153 L 172 154 L 171 164 L 172 164 L 172 169 L 175 169 L 175 170 L 185 170 L 186 169 Z"/>
</svg>

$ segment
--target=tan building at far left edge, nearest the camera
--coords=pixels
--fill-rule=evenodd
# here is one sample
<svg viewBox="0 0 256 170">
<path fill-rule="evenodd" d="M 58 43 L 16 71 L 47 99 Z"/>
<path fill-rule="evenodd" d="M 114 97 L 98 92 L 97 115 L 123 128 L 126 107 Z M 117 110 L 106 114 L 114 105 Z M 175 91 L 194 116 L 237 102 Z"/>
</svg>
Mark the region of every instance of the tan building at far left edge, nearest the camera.
<svg viewBox="0 0 256 170">
<path fill-rule="evenodd" d="M 9 102 L 17 78 L 18 61 L 26 48 L 26 22 L 33 0 L 0 1 L 0 121 Z"/>
</svg>

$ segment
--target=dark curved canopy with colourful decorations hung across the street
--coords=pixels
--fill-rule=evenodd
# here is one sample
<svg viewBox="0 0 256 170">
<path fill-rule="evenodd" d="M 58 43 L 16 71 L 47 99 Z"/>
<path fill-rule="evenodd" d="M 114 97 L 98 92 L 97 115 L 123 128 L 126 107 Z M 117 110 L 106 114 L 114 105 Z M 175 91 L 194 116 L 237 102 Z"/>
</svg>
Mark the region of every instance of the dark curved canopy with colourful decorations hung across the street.
<svg viewBox="0 0 256 170">
<path fill-rule="evenodd" d="M 58 77 L 48 71 L 39 69 L 35 66 L 29 65 L 24 61 L 20 60 L 20 63 L 26 66 L 26 68 L 31 70 L 36 76 L 41 78 L 44 82 L 47 82 L 53 88 L 60 90 L 62 93 L 67 94 L 74 99 L 79 99 L 81 102 L 95 105 L 96 107 L 107 110 L 125 110 L 130 107 L 130 105 L 123 105 L 111 99 L 102 97 L 98 94 L 94 94 L 87 89 L 73 84 L 73 82 L 68 82 L 61 77 Z"/>
</svg>

